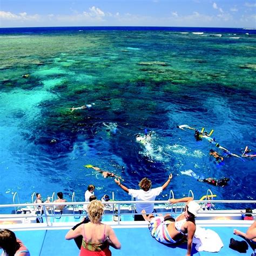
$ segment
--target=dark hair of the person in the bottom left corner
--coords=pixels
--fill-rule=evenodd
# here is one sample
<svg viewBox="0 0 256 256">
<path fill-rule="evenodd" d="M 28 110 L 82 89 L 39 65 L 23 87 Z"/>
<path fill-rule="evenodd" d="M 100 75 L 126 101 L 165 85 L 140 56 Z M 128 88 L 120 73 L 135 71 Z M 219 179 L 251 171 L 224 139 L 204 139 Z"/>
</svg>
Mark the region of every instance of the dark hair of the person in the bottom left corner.
<svg viewBox="0 0 256 256">
<path fill-rule="evenodd" d="M 21 245 L 17 242 L 14 232 L 11 230 L 0 230 L 0 247 L 6 255 L 14 256 Z"/>
</svg>

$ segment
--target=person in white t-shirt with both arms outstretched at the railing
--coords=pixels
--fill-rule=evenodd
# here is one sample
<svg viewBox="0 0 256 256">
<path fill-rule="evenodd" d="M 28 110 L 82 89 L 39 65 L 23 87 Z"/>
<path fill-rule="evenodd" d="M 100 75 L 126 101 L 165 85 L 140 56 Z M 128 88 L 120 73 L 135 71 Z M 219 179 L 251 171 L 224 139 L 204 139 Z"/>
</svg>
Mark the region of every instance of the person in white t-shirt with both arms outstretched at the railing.
<svg viewBox="0 0 256 256">
<path fill-rule="evenodd" d="M 159 194 L 169 185 L 171 179 L 172 174 L 169 175 L 163 186 L 151 188 L 151 180 L 148 178 L 143 178 L 139 183 L 139 187 L 141 188 L 140 190 L 127 188 L 121 184 L 119 179 L 114 179 L 114 181 L 118 186 L 120 186 L 120 188 L 122 188 L 122 190 L 130 194 L 130 196 L 136 198 L 136 201 L 154 201 L 156 197 L 159 196 Z M 142 210 L 145 210 L 147 214 L 150 214 L 154 211 L 154 204 L 136 204 L 136 213 L 141 213 Z M 144 220 L 144 218 L 142 215 L 134 215 L 134 220 Z"/>
</svg>

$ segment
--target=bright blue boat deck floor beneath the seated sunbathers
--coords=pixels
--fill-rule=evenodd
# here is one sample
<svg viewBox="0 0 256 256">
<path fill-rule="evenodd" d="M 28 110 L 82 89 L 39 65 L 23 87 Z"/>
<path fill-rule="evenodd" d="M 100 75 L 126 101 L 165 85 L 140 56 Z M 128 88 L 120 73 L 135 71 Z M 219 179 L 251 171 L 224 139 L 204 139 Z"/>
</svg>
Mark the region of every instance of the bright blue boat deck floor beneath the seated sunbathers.
<svg viewBox="0 0 256 256">
<path fill-rule="evenodd" d="M 225 255 L 233 256 L 240 255 L 239 252 L 234 251 L 228 247 L 230 239 L 241 241 L 242 238 L 233 234 L 233 229 L 237 228 L 246 232 L 247 227 L 205 227 L 217 232 L 223 241 L 224 247 L 217 253 L 198 252 L 193 245 L 192 254 L 196 256 L 206 255 Z M 21 239 L 24 244 L 29 248 L 31 256 L 70 256 L 78 255 L 79 250 L 73 240 L 65 240 L 65 234 L 68 230 L 33 230 L 33 231 L 16 231 L 16 235 Z M 155 255 L 175 255 L 184 256 L 186 254 L 186 243 L 177 247 L 168 247 L 160 244 L 154 240 L 146 227 L 133 227 L 133 228 L 114 228 L 119 241 L 122 244 L 121 250 L 114 250 L 111 248 L 113 256 L 155 256 Z M 1 252 L 1 250 L 0 250 Z M 251 255 L 252 249 L 248 248 L 246 253 L 242 255 Z"/>
</svg>

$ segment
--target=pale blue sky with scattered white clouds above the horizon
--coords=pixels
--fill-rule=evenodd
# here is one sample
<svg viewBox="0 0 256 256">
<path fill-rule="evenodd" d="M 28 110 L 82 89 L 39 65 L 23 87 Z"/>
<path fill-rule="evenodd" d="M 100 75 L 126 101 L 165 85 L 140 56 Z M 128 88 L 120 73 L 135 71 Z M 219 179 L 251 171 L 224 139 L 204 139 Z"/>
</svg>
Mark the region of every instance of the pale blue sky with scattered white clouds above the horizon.
<svg viewBox="0 0 256 256">
<path fill-rule="evenodd" d="M 256 0 L 0 0 L 0 27 L 256 28 Z"/>
</svg>

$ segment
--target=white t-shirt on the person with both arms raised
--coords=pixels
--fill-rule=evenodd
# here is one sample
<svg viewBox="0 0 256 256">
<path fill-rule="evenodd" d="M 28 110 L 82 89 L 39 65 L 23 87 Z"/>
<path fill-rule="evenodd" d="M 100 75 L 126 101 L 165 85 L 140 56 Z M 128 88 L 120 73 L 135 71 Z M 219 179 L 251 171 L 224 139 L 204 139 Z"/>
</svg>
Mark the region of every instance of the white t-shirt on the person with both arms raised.
<svg viewBox="0 0 256 256">
<path fill-rule="evenodd" d="M 154 201 L 157 196 L 163 191 L 163 187 L 152 188 L 149 191 L 144 190 L 129 190 L 129 194 L 136 198 L 136 201 Z M 154 204 L 136 204 L 137 213 L 141 213 L 142 210 L 146 213 L 152 213 L 154 211 Z"/>
</svg>

